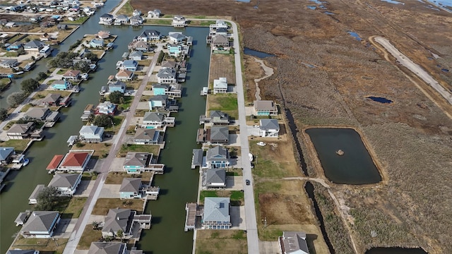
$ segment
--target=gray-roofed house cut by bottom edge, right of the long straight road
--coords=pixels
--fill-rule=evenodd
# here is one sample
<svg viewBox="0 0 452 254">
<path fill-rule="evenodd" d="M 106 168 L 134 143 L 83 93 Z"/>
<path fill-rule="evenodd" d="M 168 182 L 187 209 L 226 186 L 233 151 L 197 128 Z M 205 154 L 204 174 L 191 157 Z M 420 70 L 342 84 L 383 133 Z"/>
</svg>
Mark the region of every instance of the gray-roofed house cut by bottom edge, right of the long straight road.
<svg viewBox="0 0 452 254">
<path fill-rule="evenodd" d="M 306 233 L 296 231 L 283 231 L 278 238 L 278 246 L 282 254 L 309 254 Z"/>
</svg>

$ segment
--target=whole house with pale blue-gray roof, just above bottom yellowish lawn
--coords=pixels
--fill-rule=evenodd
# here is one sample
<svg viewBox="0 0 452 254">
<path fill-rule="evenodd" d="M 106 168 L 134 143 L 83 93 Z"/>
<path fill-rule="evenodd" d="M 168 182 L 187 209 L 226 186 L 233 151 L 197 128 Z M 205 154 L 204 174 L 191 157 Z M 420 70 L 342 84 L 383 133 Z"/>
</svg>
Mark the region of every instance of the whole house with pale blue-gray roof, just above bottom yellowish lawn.
<svg viewBox="0 0 452 254">
<path fill-rule="evenodd" d="M 230 198 L 205 198 L 203 229 L 230 229 Z"/>
</svg>

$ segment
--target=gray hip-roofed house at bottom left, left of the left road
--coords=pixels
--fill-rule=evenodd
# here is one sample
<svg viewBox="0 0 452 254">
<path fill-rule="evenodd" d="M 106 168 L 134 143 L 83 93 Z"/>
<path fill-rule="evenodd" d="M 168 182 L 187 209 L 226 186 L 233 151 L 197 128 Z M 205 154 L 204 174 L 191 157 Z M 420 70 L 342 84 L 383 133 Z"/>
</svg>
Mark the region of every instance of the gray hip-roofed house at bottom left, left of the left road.
<svg viewBox="0 0 452 254">
<path fill-rule="evenodd" d="M 20 229 L 20 235 L 24 238 L 51 238 L 60 219 L 57 211 L 33 211 Z"/>
</svg>

